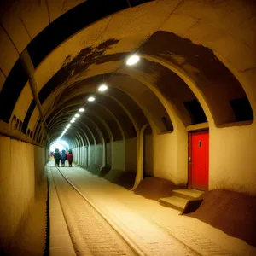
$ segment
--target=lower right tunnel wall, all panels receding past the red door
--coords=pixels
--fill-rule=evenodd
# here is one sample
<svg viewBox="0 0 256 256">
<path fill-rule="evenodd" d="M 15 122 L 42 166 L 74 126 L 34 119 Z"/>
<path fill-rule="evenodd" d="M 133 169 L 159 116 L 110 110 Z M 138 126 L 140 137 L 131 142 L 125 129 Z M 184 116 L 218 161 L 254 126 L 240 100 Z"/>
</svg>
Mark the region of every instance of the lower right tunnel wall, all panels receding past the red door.
<svg viewBox="0 0 256 256">
<path fill-rule="evenodd" d="M 254 123 L 210 127 L 209 189 L 224 188 L 256 194 L 255 129 Z M 125 140 L 125 143 L 107 143 L 106 148 L 107 166 L 111 166 L 109 179 L 118 176 L 119 172 L 137 171 L 137 138 Z M 81 149 L 75 150 L 79 152 Z M 88 152 L 89 170 L 96 169 L 99 172 L 102 166 L 102 144 L 90 146 Z M 75 159 L 78 157 L 76 154 Z M 80 161 L 85 167 L 85 150 L 81 155 Z M 144 175 L 165 178 L 177 184 L 188 183 L 188 131 L 165 134 L 153 131 L 152 135 L 145 134 L 143 160 Z"/>
</svg>

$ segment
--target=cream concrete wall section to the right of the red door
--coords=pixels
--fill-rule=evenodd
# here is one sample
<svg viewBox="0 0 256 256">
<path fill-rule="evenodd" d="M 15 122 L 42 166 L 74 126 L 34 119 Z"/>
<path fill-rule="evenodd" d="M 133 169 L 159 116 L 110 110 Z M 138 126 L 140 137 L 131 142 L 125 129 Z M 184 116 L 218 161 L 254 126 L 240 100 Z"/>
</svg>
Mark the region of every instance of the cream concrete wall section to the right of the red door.
<svg viewBox="0 0 256 256">
<path fill-rule="evenodd" d="M 256 125 L 210 130 L 209 189 L 256 194 Z"/>
</svg>

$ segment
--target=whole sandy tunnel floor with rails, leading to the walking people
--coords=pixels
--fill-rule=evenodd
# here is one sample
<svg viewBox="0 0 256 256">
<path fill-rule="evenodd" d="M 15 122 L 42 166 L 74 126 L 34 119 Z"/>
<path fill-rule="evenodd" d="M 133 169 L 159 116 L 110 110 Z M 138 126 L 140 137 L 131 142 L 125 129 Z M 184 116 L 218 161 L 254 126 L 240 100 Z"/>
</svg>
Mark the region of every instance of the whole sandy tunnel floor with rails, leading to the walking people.
<svg viewBox="0 0 256 256">
<path fill-rule="evenodd" d="M 96 220 L 97 212 L 100 212 L 110 226 L 113 225 L 120 236 L 129 241 L 128 245 L 135 250 L 136 255 L 210 255 L 212 252 L 213 255 L 253 255 L 256 252 L 255 248 L 247 247 L 243 241 L 239 241 L 234 247 L 236 238 L 224 234 L 221 230 L 216 230 L 199 220 L 179 216 L 177 210 L 161 207 L 157 201 L 135 195 L 104 178 L 91 175 L 80 167 L 61 167 L 60 172 L 52 161 L 49 162 L 48 168 L 52 217 L 50 251 L 61 251 L 61 247 L 67 245 L 67 238 L 63 235 L 69 234 L 73 241 L 69 246 L 74 247 L 77 254 L 110 255 L 118 248 L 121 255 L 133 255 L 125 251 L 127 245 L 112 245 L 112 242 L 115 242 L 113 237 L 112 242 L 108 241 L 99 220 Z M 70 183 L 79 189 L 80 195 Z M 93 210 L 81 195 L 96 207 L 96 210 Z M 94 217 L 90 216 L 92 210 Z M 68 231 L 63 231 L 64 219 Z M 103 219 L 104 222 L 106 221 Z M 108 231 L 108 236 L 109 234 L 112 232 Z M 54 242 L 57 239 L 58 244 Z M 100 244 L 97 244 L 98 242 Z"/>
</svg>

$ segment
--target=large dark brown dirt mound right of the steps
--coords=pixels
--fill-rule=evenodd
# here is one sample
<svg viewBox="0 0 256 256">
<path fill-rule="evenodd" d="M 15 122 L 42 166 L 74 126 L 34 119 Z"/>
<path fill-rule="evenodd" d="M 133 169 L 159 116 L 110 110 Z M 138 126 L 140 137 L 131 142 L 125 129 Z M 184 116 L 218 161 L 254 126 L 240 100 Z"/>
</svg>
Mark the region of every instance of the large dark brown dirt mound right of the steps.
<svg viewBox="0 0 256 256">
<path fill-rule="evenodd" d="M 201 206 L 186 216 L 198 218 L 256 247 L 256 196 L 215 189 L 201 198 Z"/>
</svg>

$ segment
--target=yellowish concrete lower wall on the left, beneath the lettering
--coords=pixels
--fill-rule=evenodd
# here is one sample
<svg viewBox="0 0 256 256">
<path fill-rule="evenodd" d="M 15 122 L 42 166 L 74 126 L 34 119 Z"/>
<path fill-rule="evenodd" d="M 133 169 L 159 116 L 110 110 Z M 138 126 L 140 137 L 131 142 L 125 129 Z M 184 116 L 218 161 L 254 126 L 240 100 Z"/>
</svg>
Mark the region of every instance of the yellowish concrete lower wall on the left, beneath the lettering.
<svg viewBox="0 0 256 256">
<path fill-rule="evenodd" d="M 34 200 L 45 150 L 0 136 L 0 247 L 6 247 Z"/>
</svg>

